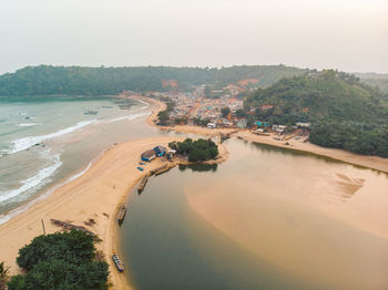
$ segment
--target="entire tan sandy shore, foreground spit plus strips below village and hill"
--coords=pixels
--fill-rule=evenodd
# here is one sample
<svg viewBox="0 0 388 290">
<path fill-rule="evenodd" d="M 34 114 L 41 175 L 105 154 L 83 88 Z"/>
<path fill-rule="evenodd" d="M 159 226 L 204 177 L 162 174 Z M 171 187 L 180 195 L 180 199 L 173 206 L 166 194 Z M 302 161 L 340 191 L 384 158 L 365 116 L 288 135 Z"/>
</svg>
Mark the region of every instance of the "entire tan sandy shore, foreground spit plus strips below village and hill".
<svg viewBox="0 0 388 290">
<path fill-rule="evenodd" d="M 171 130 L 182 133 L 193 133 L 207 136 L 218 136 L 221 133 L 229 133 L 249 142 L 268 144 L 272 146 L 284 147 L 312 153 L 350 163 L 357 166 L 364 166 L 388 173 L 388 158 L 376 156 L 363 156 L 348 153 L 340 149 L 325 148 L 310 143 L 300 143 L 298 141 L 285 142 L 275 141 L 272 136 L 257 136 L 247 130 L 210 130 L 196 126 L 174 126 L 160 127 L 155 125 L 157 113 L 165 108 L 165 104 L 149 97 L 127 96 L 121 97 L 139 99 L 156 105 L 152 114 L 146 118 L 149 125 L 161 130 Z M 119 227 L 115 220 L 120 204 L 126 200 L 129 193 L 144 176 L 145 172 L 155 169 L 165 163 L 160 159 L 153 160 L 145 165 L 145 172 L 136 169 L 139 156 L 145 149 L 162 144 L 166 145 L 171 141 L 180 141 L 183 137 L 157 136 L 152 138 L 139 139 L 119 144 L 108 148 L 83 175 L 72 175 L 65 180 L 70 180 L 54 187 L 53 193 L 42 200 L 33 203 L 28 210 L 12 217 L 11 220 L 0 225 L 0 249 L 1 260 L 7 266 L 11 266 L 10 273 L 20 273 L 19 267 L 16 265 L 16 257 L 19 248 L 30 242 L 35 236 L 42 235 L 41 219 L 44 221 L 45 231 L 48 234 L 61 230 L 50 222 L 50 218 L 64 220 L 78 226 L 85 226 L 84 222 L 93 218 L 96 224 L 94 226 L 85 226 L 95 232 L 102 242 L 98 244 L 98 250 L 102 250 L 106 256 L 110 265 L 110 282 L 113 284 L 111 289 L 132 289 L 130 281 L 125 275 L 115 271 L 114 263 L 111 261 L 111 252 L 114 249 L 120 255 L 120 238 L 118 236 Z M 215 163 L 222 163 L 227 159 L 228 152 L 224 146 L 219 146 L 221 158 Z M 213 162 L 214 163 L 214 162 Z M 55 186 L 55 185 L 54 185 Z M 125 261 L 124 261 L 125 263 Z"/>
</svg>

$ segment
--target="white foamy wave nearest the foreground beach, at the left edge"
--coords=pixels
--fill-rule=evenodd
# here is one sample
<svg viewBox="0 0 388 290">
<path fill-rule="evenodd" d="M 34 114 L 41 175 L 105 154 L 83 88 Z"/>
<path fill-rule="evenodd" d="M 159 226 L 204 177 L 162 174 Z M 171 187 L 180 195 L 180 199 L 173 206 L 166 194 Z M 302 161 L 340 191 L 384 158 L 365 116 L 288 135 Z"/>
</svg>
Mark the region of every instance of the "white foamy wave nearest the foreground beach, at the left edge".
<svg viewBox="0 0 388 290">
<path fill-rule="evenodd" d="M 14 198 L 32 188 L 40 188 L 48 183 L 48 177 L 53 175 L 62 165 L 60 156 L 54 156 L 54 164 L 38 172 L 37 175 L 21 182 L 22 186 L 17 189 L 0 191 L 0 203 Z"/>
</svg>

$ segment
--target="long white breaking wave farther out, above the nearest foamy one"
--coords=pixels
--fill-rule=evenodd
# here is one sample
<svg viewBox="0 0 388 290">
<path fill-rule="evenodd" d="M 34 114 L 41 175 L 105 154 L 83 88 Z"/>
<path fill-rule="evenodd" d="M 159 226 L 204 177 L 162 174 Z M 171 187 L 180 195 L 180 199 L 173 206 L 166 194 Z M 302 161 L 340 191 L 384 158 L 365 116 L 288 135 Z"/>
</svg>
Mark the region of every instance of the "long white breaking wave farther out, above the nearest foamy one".
<svg viewBox="0 0 388 290">
<path fill-rule="evenodd" d="M 33 145 L 35 145 L 35 144 L 42 142 L 42 141 L 50 139 L 50 138 L 55 138 L 55 137 L 62 136 L 64 134 L 69 134 L 71 132 L 74 132 L 76 130 L 80 130 L 80 128 L 82 128 L 84 126 L 88 126 L 88 125 L 90 125 L 92 123 L 96 123 L 96 122 L 98 122 L 96 120 L 82 121 L 82 122 L 79 122 L 74 126 L 62 128 L 62 130 L 57 131 L 57 132 L 51 133 L 51 134 L 16 139 L 16 141 L 12 142 L 11 149 L 8 149 L 7 153 L 8 154 L 12 154 L 12 153 L 17 153 L 17 152 L 20 152 L 20 151 L 24 151 L 24 149 L 31 148 Z"/>
</svg>

